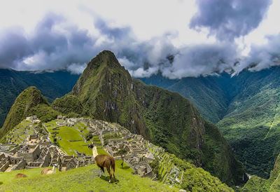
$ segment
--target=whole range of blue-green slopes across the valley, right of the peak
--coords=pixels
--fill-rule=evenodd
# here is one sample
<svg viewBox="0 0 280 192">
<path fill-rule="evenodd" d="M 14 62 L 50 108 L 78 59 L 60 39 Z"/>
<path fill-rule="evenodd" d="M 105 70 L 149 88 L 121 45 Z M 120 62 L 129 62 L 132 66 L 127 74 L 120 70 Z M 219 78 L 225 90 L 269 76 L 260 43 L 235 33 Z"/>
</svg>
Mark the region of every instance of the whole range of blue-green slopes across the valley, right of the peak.
<svg viewBox="0 0 280 192">
<path fill-rule="evenodd" d="M 179 92 L 202 116 L 217 123 L 250 174 L 269 177 L 280 151 L 280 67 L 199 78 L 142 79 Z"/>
</svg>

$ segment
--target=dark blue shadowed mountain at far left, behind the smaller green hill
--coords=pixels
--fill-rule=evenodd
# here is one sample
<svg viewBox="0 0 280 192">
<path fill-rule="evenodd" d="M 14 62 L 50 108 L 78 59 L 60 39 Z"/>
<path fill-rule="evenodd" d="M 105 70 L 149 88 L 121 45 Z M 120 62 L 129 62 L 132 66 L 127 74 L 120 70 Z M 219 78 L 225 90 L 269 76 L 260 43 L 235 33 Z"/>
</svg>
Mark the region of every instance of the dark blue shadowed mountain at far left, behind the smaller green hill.
<svg viewBox="0 0 280 192">
<path fill-rule="evenodd" d="M 0 128 L 16 97 L 29 86 L 36 86 L 48 102 L 52 102 L 55 98 L 62 97 L 72 90 L 78 77 L 68 71 L 39 72 L 0 69 Z"/>
</svg>

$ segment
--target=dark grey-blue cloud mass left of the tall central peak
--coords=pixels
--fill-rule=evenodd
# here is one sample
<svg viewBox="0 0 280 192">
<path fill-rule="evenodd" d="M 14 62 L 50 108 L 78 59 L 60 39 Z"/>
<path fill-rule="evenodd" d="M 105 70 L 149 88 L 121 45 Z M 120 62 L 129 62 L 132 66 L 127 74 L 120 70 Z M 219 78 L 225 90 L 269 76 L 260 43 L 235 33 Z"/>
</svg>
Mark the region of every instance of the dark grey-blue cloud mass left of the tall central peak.
<svg viewBox="0 0 280 192">
<path fill-rule="evenodd" d="M 96 41 L 85 29 L 75 25 L 59 30 L 66 20 L 48 13 L 36 25 L 33 34 L 11 28 L 0 36 L 0 65 L 20 70 L 65 69 L 85 65 L 98 53 Z M 75 71 L 73 71 L 75 72 Z"/>
</svg>

